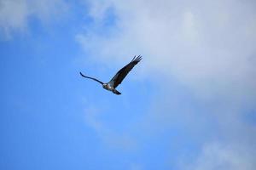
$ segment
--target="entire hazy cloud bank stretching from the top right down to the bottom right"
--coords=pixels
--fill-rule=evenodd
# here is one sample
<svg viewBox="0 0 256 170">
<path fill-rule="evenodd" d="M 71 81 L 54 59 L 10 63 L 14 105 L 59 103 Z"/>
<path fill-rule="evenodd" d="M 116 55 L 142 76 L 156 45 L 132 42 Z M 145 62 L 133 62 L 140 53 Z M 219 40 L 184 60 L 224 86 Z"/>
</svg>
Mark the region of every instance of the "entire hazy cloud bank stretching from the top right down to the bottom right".
<svg viewBox="0 0 256 170">
<path fill-rule="evenodd" d="M 112 0 L 103 6 L 91 3 L 94 20 L 107 20 L 99 17 L 106 7 L 112 8 L 116 22 L 108 37 L 99 33 L 105 27 L 97 22 L 81 32 L 84 50 L 106 65 L 109 59 L 143 54 L 144 73 L 154 72 L 159 82 L 165 79 L 148 106 L 145 128 L 137 133 L 184 126 L 184 132 L 200 140 L 198 156 L 188 163 L 191 169 L 253 169 L 256 127 L 246 114 L 256 101 L 256 4 Z M 97 8 L 102 10 L 97 13 Z M 173 90 L 182 91 L 171 90 L 173 82 L 188 93 L 173 95 Z M 184 105 L 191 100 L 195 105 Z"/>
</svg>

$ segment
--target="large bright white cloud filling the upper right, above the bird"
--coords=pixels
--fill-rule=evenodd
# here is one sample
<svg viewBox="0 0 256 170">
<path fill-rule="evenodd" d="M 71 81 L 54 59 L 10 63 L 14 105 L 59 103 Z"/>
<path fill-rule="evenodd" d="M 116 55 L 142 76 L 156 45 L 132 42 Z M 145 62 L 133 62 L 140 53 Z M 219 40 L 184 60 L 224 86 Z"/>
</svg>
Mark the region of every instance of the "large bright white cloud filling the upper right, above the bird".
<svg viewBox="0 0 256 170">
<path fill-rule="evenodd" d="M 256 21 L 252 20 L 256 13 L 249 2 L 141 0 L 103 4 L 102 8 L 113 8 L 118 21 L 109 32 L 110 38 L 97 31 L 78 36 L 92 54 L 106 61 L 143 54 L 148 69 L 175 77 L 201 94 L 216 93 L 217 88 L 247 97 L 256 91 Z M 95 20 L 102 20 L 98 16 L 104 13 L 99 10 L 96 14 L 97 8 L 101 8 L 99 3 L 92 3 Z"/>
</svg>

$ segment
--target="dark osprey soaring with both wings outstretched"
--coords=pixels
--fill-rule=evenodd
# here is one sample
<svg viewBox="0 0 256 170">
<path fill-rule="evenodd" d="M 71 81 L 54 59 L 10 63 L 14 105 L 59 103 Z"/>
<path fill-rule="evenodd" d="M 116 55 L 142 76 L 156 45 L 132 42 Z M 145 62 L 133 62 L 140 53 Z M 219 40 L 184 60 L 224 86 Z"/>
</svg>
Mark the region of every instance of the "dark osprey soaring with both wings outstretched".
<svg viewBox="0 0 256 170">
<path fill-rule="evenodd" d="M 106 90 L 109 90 L 113 92 L 113 94 L 121 94 L 119 91 L 117 91 L 115 88 L 119 86 L 119 84 L 124 80 L 124 78 L 127 76 L 127 74 L 131 71 L 131 69 L 137 65 L 140 60 L 143 59 L 141 55 L 134 56 L 134 58 L 131 60 L 131 62 L 128 65 L 125 65 L 121 70 L 119 70 L 115 76 L 110 80 L 108 83 L 101 82 L 93 77 L 85 77 L 82 72 L 80 72 L 80 75 L 84 78 L 90 78 L 91 80 L 94 80 L 96 82 L 100 82 L 102 84 L 102 87 Z"/>
</svg>

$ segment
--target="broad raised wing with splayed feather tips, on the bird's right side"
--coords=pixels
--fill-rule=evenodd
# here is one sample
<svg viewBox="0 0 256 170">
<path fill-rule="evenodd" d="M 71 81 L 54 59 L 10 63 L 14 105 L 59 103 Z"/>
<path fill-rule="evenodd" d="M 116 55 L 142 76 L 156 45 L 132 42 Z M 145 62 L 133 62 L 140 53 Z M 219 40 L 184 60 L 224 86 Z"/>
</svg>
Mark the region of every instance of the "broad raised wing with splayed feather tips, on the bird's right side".
<svg viewBox="0 0 256 170">
<path fill-rule="evenodd" d="M 113 85 L 113 88 L 118 87 L 118 85 L 124 80 L 127 74 L 131 71 L 131 69 L 137 65 L 140 60 L 143 59 L 142 56 L 134 56 L 131 62 L 128 65 L 125 65 L 121 70 L 119 70 L 116 75 L 109 82 Z"/>
</svg>

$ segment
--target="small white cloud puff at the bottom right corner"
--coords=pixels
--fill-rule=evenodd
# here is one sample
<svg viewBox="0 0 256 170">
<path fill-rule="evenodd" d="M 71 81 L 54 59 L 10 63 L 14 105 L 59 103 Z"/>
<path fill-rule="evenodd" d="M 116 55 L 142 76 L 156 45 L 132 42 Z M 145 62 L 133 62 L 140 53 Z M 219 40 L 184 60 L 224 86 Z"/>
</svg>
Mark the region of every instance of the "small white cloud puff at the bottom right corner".
<svg viewBox="0 0 256 170">
<path fill-rule="evenodd" d="M 253 170 L 256 163 L 253 159 L 255 152 L 241 148 L 240 145 L 207 144 L 203 147 L 201 155 L 189 167 L 192 170 Z"/>
</svg>

